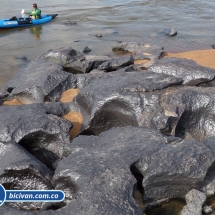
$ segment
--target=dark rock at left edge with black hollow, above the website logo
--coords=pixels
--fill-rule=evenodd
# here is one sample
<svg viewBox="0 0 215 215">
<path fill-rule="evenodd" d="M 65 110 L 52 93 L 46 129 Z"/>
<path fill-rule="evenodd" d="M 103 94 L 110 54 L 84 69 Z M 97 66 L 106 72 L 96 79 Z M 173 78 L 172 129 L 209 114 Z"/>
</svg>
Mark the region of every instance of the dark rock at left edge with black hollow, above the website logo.
<svg viewBox="0 0 215 215">
<path fill-rule="evenodd" d="M 60 114 L 56 109 L 42 104 L 1 106 L 0 141 L 19 143 L 54 169 L 55 162 L 62 158 L 64 145 L 70 140 L 72 127 L 71 122 L 50 114 Z"/>
</svg>

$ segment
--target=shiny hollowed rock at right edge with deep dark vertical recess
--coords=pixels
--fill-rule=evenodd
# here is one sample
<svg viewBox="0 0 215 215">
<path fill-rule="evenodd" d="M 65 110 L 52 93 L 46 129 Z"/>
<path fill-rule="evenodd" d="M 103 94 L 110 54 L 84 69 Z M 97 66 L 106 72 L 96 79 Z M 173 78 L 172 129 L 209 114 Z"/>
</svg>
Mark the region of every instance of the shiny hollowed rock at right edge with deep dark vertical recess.
<svg viewBox="0 0 215 215">
<path fill-rule="evenodd" d="M 169 121 L 169 135 L 203 141 L 214 137 L 215 88 L 178 87 L 162 92 L 160 104 Z M 165 131 L 163 131 L 165 133 Z"/>
</svg>

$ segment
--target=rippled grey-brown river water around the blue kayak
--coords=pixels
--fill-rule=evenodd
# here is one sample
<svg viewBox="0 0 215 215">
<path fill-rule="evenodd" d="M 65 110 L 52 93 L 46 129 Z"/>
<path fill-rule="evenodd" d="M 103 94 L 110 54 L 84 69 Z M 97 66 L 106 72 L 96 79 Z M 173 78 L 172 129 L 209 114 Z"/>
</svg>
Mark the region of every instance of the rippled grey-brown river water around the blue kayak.
<svg viewBox="0 0 215 215">
<path fill-rule="evenodd" d="M 0 19 L 20 16 L 31 10 L 26 0 L 1 2 Z M 44 25 L 0 30 L 0 85 L 11 79 L 24 62 L 60 47 L 92 49 L 92 54 L 109 54 L 116 41 L 149 42 L 165 51 L 209 49 L 215 43 L 213 0 L 37 0 L 43 14 L 58 13 Z M 65 25 L 76 21 L 77 25 Z M 178 35 L 168 37 L 174 27 Z M 101 33 L 102 38 L 94 35 Z"/>
</svg>

